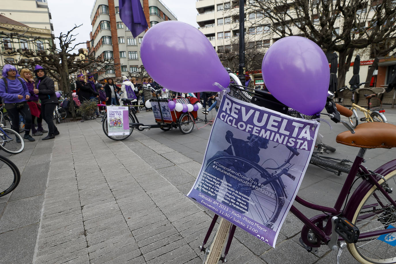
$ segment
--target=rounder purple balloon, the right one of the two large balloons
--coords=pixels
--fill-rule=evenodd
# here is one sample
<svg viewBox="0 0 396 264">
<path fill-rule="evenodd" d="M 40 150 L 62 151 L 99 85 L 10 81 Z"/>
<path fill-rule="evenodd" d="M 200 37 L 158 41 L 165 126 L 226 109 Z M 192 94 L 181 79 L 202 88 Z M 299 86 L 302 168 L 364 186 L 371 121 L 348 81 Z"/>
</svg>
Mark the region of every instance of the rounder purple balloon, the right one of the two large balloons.
<svg viewBox="0 0 396 264">
<path fill-rule="evenodd" d="M 277 40 L 265 53 L 261 69 L 268 91 L 282 103 L 306 115 L 323 110 L 329 63 L 311 40 L 300 36 Z"/>
</svg>

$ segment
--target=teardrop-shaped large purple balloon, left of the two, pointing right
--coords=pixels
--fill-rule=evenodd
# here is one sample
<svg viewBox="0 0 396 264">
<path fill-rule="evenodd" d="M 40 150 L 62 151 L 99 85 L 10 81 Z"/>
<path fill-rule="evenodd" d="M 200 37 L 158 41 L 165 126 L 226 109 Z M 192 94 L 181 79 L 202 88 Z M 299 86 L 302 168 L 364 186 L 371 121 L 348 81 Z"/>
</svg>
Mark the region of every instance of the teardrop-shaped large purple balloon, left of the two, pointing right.
<svg viewBox="0 0 396 264">
<path fill-rule="evenodd" d="M 215 82 L 223 87 L 230 83 L 208 38 L 187 23 L 164 21 L 151 27 L 143 36 L 140 54 L 150 77 L 172 91 L 218 92 Z"/>
</svg>

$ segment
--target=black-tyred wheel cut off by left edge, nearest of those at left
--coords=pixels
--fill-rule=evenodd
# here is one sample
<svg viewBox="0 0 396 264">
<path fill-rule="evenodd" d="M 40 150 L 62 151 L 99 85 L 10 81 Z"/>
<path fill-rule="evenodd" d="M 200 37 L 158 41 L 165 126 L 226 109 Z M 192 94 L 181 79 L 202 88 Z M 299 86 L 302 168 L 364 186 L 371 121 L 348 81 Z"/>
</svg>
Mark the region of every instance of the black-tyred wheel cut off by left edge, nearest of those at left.
<svg viewBox="0 0 396 264">
<path fill-rule="evenodd" d="M 18 167 L 8 158 L 0 156 L 0 197 L 14 190 L 20 179 Z"/>
</svg>

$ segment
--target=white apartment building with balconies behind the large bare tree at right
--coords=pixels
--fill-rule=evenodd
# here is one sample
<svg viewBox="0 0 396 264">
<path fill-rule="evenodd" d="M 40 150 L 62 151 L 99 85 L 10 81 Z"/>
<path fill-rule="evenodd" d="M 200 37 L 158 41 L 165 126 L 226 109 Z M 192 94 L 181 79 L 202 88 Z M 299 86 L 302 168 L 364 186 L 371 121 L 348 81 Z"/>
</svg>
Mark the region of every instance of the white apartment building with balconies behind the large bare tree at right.
<svg viewBox="0 0 396 264">
<path fill-rule="evenodd" d="M 244 0 L 245 10 L 245 47 L 254 47 L 258 49 L 259 53 L 265 54 L 265 51 L 272 45 L 279 36 L 271 36 L 270 27 L 266 26 L 252 26 L 256 21 L 263 21 L 262 10 L 253 8 L 254 2 L 257 0 Z M 358 10 L 358 12 L 367 12 L 367 15 L 373 15 L 368 5 L 366 9 Z M 198 14 L 196 21 L 199 25 L 199 30 L 205 34 L 212 46 L 219 53 L 225 49 L 233 49 L 238 53 L 238 39 L 239 39 L 239 0 L 197 0 L 196 9 Z M 285 9 L 287 13 L 292 13 L 293 8 Z M 314 17 L 315 21 L 319 21 Z M 341 19 L 337 21 L 339 28 L 342 28 Z M 338 28 L 338 30 L 339 30 Z M 297 28 L 295 28 L 297 30 Z M 293 34 L 298 34 L 294 31 Z M 370 47 L 364 50 L 356 50 L 354 55 L 360 54 L 360 80 L 364 81 L 367 77 L 367 71 L 372 65 L 374 58 L 370 53 Z M 392 72 L 396 70 L 396 58 L 393 56 L 386 56 L 379 58 L 378 70 L 375 70 L 373 77 L 373 86 L 385 86 L 390 79 Z M 353 59 L 352 59 L 353 62 Z M 352 77 L 352 65 L 350 70 L 346 73 L 346 82 Z M 225 65 L 227 66 L 227 65 Z M 263 78 L 261 76 L 261 67 L 249 69 L 255 85 L 263 85 Z"/>
</svg>

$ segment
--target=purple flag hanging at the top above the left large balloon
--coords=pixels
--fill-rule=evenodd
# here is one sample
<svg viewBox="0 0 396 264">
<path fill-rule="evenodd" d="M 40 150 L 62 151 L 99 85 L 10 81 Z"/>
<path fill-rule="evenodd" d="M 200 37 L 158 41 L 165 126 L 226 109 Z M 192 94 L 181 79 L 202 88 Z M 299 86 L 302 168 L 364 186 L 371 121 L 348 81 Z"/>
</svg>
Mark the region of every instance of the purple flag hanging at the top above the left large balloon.
<svg viewBox="0 0 396 264">
<path fill-rule="evenodd" d="M 118 5 L 121 21 L 131 30 L 134 38 L 148 28 L 140 0 L 119 0 Z"/>
</svg>

